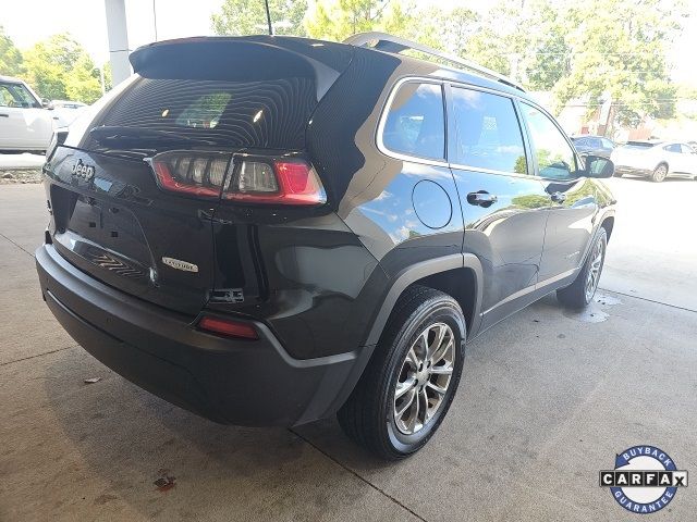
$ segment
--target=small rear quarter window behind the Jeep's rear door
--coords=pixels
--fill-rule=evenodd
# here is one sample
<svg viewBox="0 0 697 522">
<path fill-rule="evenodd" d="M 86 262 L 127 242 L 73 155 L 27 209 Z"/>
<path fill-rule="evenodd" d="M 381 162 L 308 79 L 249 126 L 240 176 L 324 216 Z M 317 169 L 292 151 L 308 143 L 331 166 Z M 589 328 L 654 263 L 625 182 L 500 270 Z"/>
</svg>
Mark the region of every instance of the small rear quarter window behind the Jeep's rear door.
<svg viewBox="0 0 697 522">
<path fill-rule="evenodd" d="M 390 105 L 382 144 L 392 152 L 443 160 L 445 117 L 443 90 L 437 84 L 403 84 Z"/>
</svg>

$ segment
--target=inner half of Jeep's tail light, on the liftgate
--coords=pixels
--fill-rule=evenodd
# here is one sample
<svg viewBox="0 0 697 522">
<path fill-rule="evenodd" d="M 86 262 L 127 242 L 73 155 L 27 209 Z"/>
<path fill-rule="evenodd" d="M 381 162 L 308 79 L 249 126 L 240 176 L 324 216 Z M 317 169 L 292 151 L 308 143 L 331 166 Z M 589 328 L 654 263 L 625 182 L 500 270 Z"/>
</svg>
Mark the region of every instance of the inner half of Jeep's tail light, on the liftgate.
<svg viewBox="0 0 697 522">
<path fill-rule="evenodd" d="M 232 154 L 169 151 L 151 160 L 157 182 L 164 190 L 201 198 L 218 198 Z"/>
</svg>

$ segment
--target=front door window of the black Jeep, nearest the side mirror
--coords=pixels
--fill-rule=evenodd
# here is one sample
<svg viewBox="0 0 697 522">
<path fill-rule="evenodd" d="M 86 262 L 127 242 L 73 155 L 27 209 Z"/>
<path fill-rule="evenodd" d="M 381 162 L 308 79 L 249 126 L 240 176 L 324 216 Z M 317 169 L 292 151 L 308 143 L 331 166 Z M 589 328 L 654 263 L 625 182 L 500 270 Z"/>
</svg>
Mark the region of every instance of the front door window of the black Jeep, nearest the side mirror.
<svg viewBox="0 0 697 522">
<path fill-rule="evenodd" d="M 570 179 L 576 177 L 576 158 L 564 135 L 540 110 L 522 103 L 541 177 Z"/>
</svg>

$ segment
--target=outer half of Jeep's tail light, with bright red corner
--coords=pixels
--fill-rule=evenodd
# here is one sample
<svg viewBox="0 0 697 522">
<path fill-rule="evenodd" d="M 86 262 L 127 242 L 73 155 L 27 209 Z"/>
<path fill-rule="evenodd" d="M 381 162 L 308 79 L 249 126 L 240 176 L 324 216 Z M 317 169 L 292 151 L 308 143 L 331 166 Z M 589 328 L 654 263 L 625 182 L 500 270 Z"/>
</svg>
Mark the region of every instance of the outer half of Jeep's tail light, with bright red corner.
<svg viewBox="0 0 697 522">
<path fill-rule="evenodd" d="M 319 176 L 303 160 L 243 160 L 223 199 L 270 204 L 321 204 L 327 194 Z"/>
</svg>

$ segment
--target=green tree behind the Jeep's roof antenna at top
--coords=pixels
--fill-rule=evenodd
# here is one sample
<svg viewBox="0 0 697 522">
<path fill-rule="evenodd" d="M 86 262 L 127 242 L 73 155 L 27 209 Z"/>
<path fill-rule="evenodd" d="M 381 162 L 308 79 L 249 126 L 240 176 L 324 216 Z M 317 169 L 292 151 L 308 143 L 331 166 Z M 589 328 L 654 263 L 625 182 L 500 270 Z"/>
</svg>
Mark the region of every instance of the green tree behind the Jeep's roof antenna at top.
<svg viewBox="0 0 697 522">
<path fill-rule="evenodd" d="M 269 0 L 271 25 L 276 35 L 305 36 L 303 18 L 307 0 Z M 259 35 L 268 33 L 262 0 L 225 0 L 220 12 L 210 17 L 217 35 Z"/>
</svg>

